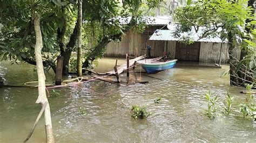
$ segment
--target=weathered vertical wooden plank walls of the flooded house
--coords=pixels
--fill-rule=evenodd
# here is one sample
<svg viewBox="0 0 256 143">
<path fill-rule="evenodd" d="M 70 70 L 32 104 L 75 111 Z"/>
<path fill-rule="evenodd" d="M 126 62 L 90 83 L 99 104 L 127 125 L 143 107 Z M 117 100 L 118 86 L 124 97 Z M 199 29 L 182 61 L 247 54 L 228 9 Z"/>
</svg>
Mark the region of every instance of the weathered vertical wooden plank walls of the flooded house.
<svg viewBox="0 0 256 143">
<path fill-rule="evenodd" d="M 129 31 L 122 37 L 120 42 L 110 42 L 106 46 L 105 56 L 125 57 L 126 53 L 130 56 L 146 54 L 146 46 L 150 45 L 151 56 L 157 57 L 163 55 L 165 41 L 150 41 L 152 32 L 159 27 L 149 27 L 143 33 Z M 176 44 L 178 41 L 166 41 L 166 51 L 171 52 L 171 59 L 176 58 Z M 201 42 L 199 62 L 219 63 L 220 43 Z M 221 63 L 228 62 L 227 43 L 223 44 Z M 240 58 L 240 48 L 234 49 L 237 53 L 236 57 Z"/>
</svg>

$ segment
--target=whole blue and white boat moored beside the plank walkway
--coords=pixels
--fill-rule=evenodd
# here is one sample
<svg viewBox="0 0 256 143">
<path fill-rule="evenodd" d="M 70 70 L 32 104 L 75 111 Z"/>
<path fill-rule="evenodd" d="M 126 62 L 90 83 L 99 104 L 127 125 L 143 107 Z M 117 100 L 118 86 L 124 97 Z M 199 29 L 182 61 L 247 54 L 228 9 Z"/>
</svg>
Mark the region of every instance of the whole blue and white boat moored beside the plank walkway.
<svg viewBox="0 0 256 143">
<path fill-rule="evenodd" d="M 166 62 L 161 62 L 161 58 L 144 59 L 139 60 L 137 63 L 142 65 L 142 68 L 147 71 L 147 73 L 157 73 L 166 69 L 170 69 L 176 66 L 176 59 L 167 60 Z"/>
</svg>

